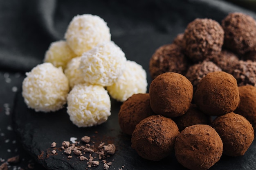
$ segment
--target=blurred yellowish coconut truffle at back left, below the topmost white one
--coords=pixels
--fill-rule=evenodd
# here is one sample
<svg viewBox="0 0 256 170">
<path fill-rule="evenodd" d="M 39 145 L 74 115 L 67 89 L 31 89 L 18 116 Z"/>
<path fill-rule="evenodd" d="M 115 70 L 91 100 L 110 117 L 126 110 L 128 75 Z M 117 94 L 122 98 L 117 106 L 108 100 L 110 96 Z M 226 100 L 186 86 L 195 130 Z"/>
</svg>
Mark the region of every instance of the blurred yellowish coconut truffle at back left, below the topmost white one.
<svg viewBox="0 0 256 170">
<path fill-rule="evenodd" d="M 64 70 L 67 63 L 76 57 L 76 54 L 67 45 L 66 41 L 60 40 L 52 42 L 45 52 L 44 62 L 52 63 L 55 67 L 62 67 Z"/>
</svg>

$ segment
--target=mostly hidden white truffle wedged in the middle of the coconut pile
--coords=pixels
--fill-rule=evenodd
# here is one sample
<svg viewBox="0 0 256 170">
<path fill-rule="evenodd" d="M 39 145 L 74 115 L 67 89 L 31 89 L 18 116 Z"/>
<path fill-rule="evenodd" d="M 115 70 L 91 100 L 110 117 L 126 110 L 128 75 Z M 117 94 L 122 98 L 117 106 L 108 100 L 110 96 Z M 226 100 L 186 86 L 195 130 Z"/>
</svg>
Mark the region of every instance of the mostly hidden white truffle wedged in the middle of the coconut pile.
<svg viewBox="0 0 256 170">
<path fill-rule="evenodd" d="M 64 71 L 70 84 L 70 88 L 73 88 L 76 84 L 85 83 L 82 72 L 79 69 L 80 61 L 81 57 L 71 59 L 70 62 L 67 63 L 67 67 Z"/>
</svg>

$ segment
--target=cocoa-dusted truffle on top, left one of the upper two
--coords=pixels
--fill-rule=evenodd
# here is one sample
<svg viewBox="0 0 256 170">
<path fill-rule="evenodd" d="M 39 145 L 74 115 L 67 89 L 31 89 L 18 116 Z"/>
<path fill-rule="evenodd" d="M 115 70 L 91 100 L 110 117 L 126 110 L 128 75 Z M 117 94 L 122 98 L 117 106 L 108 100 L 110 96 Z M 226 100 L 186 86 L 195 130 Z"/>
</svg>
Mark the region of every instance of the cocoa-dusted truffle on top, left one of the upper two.
<svg viewBox="0 0 256 170">
<path fill-rule="evenodd" d="M 166 117 L 182 116 L 190 107 L 193 86 L 185 76 L 167 72 L 151 82 L 149 96 L 154 113 Z"/>
</svg>

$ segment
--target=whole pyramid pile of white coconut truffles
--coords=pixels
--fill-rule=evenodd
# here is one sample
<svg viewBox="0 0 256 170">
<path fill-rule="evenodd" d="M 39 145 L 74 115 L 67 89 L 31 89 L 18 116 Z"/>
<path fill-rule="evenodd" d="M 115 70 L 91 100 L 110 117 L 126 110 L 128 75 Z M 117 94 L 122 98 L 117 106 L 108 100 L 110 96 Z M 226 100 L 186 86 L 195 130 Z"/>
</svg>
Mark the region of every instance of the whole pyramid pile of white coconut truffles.
<svg viewBox="0 0 256 170">
<path fill-rule="evenodd" d="M 70 120 L 78 127 L 106 122 L 110 96 L 120 102 L 146 93 L 146 71 L 126 59 L 111 41 L 107 23 L 97 15 L 75 16 L 65 40 L 50 44 L 44 63 L 26 73 L 22 96 L 38 112 L 57 111 L 67 103 Z"/>
</svg>

